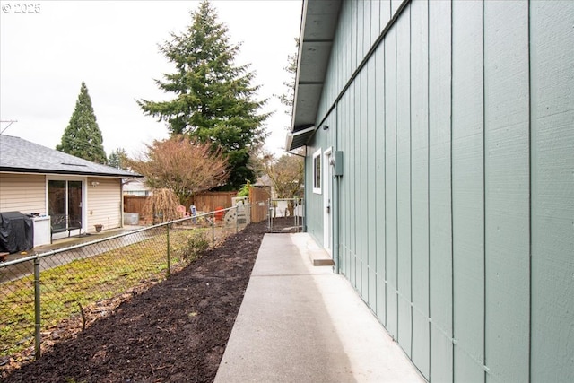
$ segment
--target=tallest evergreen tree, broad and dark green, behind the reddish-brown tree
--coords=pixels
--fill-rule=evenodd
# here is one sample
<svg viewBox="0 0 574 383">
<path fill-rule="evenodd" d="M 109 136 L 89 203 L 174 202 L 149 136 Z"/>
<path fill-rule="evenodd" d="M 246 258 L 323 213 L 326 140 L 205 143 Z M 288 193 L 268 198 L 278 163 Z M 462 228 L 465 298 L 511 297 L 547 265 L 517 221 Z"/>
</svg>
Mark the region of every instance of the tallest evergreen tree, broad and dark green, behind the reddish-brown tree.
<svg viewBox="0 0 574 383">
<path fill-rule="evenodd" d="M 258 114 L 266 100 L 255 100 L 260 86 L 251 85 L 249 65 L 235 65 L 239 46 L 230 45 L 227 27 L 217 22 L 212 4 L 204 1 L 191 13 L 192 24 L 171 34 L 161 53 L 176 67 L 163 74 L 158 87 L 174 93 L 169 101 L 138 100 L 144 114 L 166 122 L 171 135 L 184 134 L 221 148 L 230 164 L 226 189 L 254 181 L 248 166 L 252 148 L 265 140 L 265 119 Z"/>
</svg>

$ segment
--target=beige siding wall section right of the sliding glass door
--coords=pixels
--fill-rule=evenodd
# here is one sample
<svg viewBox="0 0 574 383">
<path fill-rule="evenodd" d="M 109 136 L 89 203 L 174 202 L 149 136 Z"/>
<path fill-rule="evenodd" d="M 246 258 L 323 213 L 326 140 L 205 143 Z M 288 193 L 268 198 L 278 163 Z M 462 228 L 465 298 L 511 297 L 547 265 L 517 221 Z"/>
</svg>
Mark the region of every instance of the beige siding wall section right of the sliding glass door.
<svg viewBox="0 0 574 383">
<path fill-rule="evenodd" d="M 95 185 L 94 185 L 95 183 Z M 86 211 L 88 232 L 94 232 L 94 225 L 103 225 L 103 230 L 122 226 L 122 196 L 120 178 L 88 178 Z"/>
</svg>

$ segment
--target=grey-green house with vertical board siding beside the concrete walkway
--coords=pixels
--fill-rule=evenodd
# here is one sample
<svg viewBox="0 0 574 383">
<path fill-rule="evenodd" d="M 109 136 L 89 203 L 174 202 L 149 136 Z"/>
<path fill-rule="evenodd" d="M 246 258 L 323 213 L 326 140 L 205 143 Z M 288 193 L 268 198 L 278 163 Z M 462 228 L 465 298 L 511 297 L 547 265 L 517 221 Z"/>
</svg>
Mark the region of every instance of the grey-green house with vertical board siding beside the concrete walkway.
<svg viewBox="0 0 574 383">
<path fill-rule="evenodd" d="M 307 231 L 430 381 L 574 381 L 573 26 L 571 1 L 304 1 Z"/>
</svg>

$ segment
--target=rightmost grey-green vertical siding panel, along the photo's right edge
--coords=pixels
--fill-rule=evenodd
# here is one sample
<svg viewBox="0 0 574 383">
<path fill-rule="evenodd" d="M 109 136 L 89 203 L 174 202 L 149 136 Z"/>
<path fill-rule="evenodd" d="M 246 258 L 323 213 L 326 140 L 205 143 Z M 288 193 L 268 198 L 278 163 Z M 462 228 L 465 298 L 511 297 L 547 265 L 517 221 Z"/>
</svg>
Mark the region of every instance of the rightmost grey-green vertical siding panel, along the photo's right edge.
<svg viewBox="0 0 574 383">
<path fill-rule="evenodd" d="M 574 3 L 530 9 L 532 378 L 574 377 Z M 550 329 L 550 331 L 549 331 Z"/>
</svg>

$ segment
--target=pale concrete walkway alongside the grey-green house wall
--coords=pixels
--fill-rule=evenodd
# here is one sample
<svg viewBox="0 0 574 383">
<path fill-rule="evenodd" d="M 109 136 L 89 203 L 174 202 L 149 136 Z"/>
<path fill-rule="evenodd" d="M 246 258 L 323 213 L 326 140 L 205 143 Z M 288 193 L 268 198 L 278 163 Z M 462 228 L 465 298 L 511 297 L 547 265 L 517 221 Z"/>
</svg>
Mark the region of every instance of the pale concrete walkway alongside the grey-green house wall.
<svg viewBox="0 0 574 383">
<path fill-rule="evenodd" d="M 425 381 L 320 251 L 265 235 L 215 382 Z"/>
</svg>

